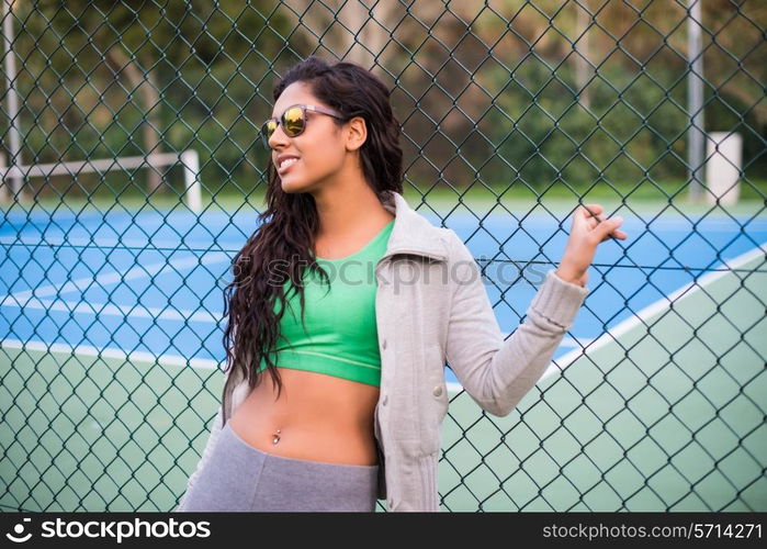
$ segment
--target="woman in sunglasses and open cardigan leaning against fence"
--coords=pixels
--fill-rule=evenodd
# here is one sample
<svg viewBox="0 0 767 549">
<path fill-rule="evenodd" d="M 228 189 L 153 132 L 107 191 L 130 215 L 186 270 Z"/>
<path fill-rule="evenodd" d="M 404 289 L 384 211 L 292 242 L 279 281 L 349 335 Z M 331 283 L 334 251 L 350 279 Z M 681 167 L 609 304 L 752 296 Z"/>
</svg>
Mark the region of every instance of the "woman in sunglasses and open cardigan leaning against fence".
<svg viewBox="0 0 767 549">
<path fill-rule="evenodd" d="M 504 340 L 466 246 L 402 195 L 385 86 L 313 56 L 273 97 L 268 208 L 234 261 L 222 405 L 178 511 L 437 511 L 445 359 L 482 408 L 510 413 L 588 293 L 597 245 L 627 238 L 621 220 L 577 210 Z"/>
</svg>

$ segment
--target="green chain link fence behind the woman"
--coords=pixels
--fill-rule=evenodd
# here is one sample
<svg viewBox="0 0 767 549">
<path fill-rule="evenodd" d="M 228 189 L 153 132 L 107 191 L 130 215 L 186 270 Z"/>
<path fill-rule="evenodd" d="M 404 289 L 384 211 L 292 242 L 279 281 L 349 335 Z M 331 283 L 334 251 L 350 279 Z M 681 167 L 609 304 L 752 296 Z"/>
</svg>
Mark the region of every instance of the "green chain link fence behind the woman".
<svg viewBox="0 0 767 549">
<path fill-rule="evenodd" d="M 535 284 L 494 269 L 555 266 L 578 203 L 627 220 L 510 416 L 451 383 L 444 511 L 767 509 L 760 2 L 2 3 L 3 509 L 176 506 L 258 126 L 311 54 L 391 87 L 406 197 L 482 256 L 505 329 Z"/>
</svg>

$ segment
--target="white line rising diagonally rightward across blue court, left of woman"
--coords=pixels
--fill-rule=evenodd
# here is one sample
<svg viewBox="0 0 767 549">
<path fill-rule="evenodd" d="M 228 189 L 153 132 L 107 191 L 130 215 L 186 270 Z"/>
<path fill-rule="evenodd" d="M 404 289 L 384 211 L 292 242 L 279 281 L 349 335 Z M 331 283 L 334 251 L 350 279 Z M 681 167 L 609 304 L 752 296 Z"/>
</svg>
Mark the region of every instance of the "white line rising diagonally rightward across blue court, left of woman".
<svg viewBox="0 0 767 549">
<path fill-rule="evenodd" d="M 188 257 L 184 259 L 176 259 L 176 260 L 170 260 L 170 261 L 158 261 L 156 264 L 149 264 L 149 265 L 142 265 L 142 266 L 134 266 L 132 267 L 127 272 L 117 272 L 117 271 L 112 271 L 112 272 L 106 272 L 103 274 L 99 274 L 95 277 L 83 277 L 79 278 L 76 280 L 70 280 L 68 282 L 61 283 L 61 284 L 48 284 L 48 285 L 42 285 L 37 288 L 33 288 L 32 290 L 23 290 L 20 292 L 14 292 L 8 296 L 4 296 L 2 300 L 3 303 L 8 300 L 8 298 L 13 298 L 16 301 L 23 302 L 21 304 L 25 304 L 30 299 L 34 298 L 46 298 L 49 295 L 56 295 L 59 293 L 72 291 L 72 290 L 84 290 L 89 285 L 91 285 L 93 282 L 98 282 L 100 285 L 109 285 L 113 283 L 117 283 L 123 280 L 134 280 L 134 279 L 139 279 L 139 278 L 146 278 L 151 274 L 157 274 L 158 272 L 161 272 L 163 269 L 172 267 L 173 269 L 177 268 L 187 268 L 187 267 L 194 267 L 195 265 L 210 265 L 210 264 L 218 264 L 229 260 L 229 257 L 227 254 L 224 254 L 223 251 L 213 251 L 210 254 L 205 254 L 202 258 L 195 257 Z"/>
</svg>

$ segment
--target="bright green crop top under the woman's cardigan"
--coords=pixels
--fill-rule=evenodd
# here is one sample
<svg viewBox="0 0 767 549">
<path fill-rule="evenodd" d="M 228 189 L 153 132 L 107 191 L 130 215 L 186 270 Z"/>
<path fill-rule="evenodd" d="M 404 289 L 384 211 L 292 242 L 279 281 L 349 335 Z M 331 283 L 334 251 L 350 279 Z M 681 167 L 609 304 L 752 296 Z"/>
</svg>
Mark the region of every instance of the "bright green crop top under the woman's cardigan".
<svg viewBox="0 0 767 549">
<path fill-rule="evenodd" d="M 296 292 L 287 292 L 280 322 L 277 355 L 280 368 L 320 372 L 381 386 L 381 354 L 375 321 L 375 265 L 386 251 L 394 220 L 365 246 L 340 259 L 315 257 L 327 272 L 329 287 L 314 271 L 304 270 L 304 322 Z M 279 311 L 275 304 L 275 312 Z M 259 371 L 267 368 L 262 359 Z"/>
</svg>

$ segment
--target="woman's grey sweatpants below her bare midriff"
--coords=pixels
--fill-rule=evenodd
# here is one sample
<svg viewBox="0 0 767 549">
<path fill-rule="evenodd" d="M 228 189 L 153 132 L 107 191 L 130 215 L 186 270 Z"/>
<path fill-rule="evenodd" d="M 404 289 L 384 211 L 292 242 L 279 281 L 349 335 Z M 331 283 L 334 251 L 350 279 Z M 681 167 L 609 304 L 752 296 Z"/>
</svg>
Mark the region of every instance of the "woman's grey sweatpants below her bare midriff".
<svg viewBox="0 0 767 549">
<path fill-rule="evenodd" d="M 373 512 L 379 466 L 267 453 L 224 425 L 210 461 L 177 511 Z"/>
</svg>

